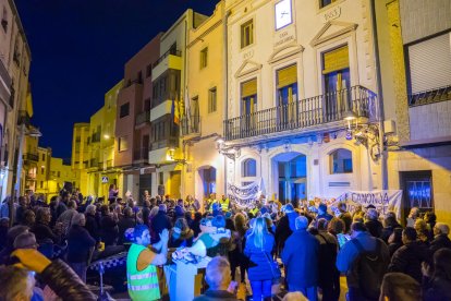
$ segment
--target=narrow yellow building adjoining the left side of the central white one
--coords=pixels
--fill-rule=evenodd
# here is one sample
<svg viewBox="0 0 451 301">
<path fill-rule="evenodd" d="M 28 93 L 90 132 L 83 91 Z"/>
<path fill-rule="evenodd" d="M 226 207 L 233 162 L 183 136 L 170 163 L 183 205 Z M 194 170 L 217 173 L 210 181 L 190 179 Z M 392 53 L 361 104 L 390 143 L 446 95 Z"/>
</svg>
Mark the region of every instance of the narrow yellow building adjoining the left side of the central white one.
<svg viewBox="0 0 451 301">
<path fill-rule="evenodd" d="M 182 195 L 202 201 L 210 193 L 224 194 L 224 158 L 217 149 L 222 135 L 226 72 L 223 5 L 188 32 L 186 49 L 187 97 L 181 119 Z M 181 165 L 182 166 L 182 165 Z"/>
</svg>

